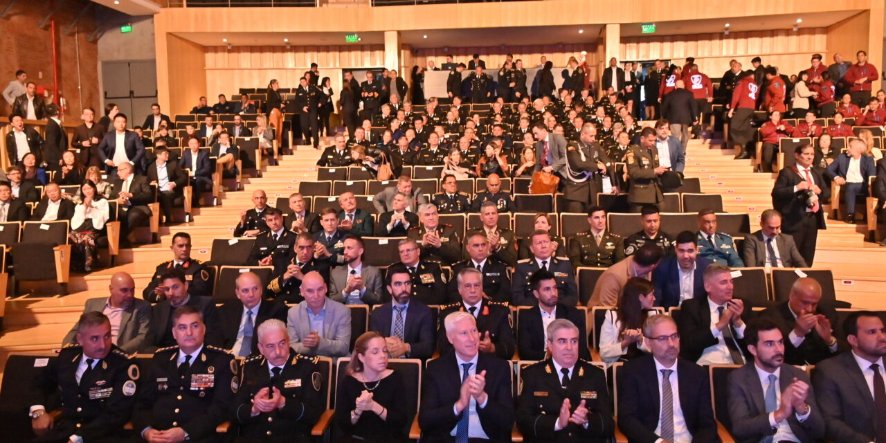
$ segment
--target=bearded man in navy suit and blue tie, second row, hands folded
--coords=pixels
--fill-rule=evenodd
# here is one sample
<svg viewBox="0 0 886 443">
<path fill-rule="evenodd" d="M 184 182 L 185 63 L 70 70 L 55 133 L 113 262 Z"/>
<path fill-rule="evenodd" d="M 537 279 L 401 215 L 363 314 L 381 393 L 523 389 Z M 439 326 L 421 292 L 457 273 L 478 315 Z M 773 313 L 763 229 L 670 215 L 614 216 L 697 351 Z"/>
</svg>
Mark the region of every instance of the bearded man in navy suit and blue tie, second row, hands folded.
<svg viewBox="0 0 886 443">
<path fill-rule="evenodd" d="M 408 269 L 402 265 L 388 268 L 385 285 L 391 302 L 372 310 L 369 330 L 385 336 L 392 358 L 430 358 L 436 348 L 436 319 L 430 307 L 411 299 L 412 277 Z"/>
</svg>

